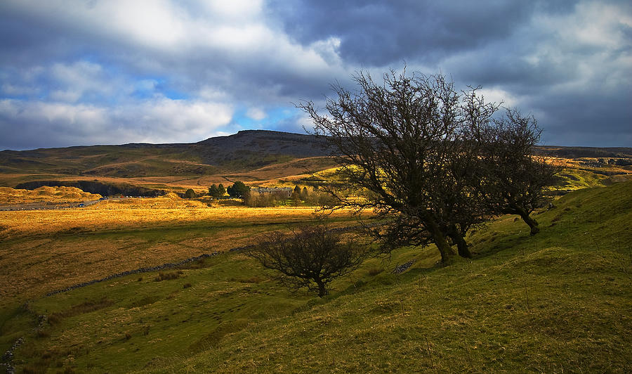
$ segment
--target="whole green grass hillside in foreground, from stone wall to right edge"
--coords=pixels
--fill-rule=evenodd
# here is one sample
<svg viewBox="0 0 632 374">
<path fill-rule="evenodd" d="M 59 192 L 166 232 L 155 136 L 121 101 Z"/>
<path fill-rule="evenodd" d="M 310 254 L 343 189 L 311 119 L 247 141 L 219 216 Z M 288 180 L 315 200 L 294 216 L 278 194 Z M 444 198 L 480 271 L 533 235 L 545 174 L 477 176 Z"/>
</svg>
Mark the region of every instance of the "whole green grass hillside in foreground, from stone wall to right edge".
<svg viewBox="0 0 632 374">
<path fill-rule="evenodd" d="M 568 193 L 470 236 L 369 259 L 324 299 L 291 295 L 240 254 L 34 300 L 14 363 L 29 373 L 632 370 L 632 182 Z M 403 274 L 391 271 L 415 259 Z"/>
</svg>

